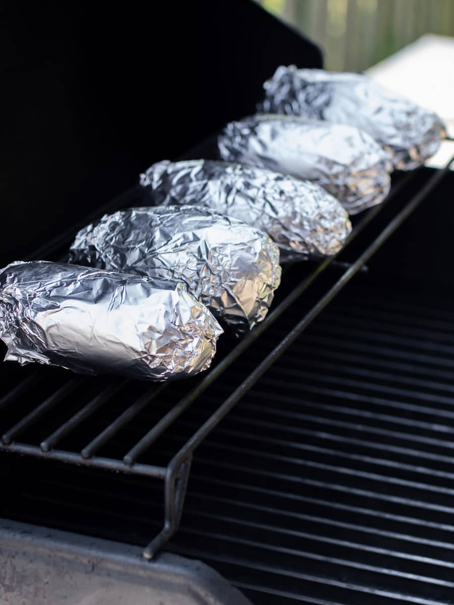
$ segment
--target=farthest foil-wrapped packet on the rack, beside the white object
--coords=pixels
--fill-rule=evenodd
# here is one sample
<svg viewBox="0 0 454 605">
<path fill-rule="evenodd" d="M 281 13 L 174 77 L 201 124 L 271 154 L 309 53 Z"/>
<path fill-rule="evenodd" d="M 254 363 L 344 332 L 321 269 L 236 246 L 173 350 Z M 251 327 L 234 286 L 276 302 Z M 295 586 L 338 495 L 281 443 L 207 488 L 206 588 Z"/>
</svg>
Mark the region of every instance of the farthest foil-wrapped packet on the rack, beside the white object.
<svg viewBox="0 0 454 605">
<path fill-rule="evenodd" d="M 446 137 L 446 126 L 435 113 L 396 97 L 363 74 L 281 66 L 263 88 L 259 111 L 361 128 L 390 149 L 400 170 L 423 164 Z"/>
</svg>

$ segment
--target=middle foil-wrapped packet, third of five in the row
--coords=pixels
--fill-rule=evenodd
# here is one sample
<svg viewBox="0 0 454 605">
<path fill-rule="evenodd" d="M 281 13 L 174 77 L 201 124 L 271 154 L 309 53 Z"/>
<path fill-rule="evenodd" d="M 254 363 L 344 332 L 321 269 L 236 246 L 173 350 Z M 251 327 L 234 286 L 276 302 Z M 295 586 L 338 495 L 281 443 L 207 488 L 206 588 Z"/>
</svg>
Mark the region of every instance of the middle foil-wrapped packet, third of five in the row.
<svg viewBox="0 0 454 605">
<path fill-rule="evenodd" d="M 332 195 L 310 181 L 215 160 L 164 160 L 140 175 L 150 203 L 197 204 L 239 218 L 274 240 L 281 261 L 337 253 L 352 226 Z"/>
</svg>

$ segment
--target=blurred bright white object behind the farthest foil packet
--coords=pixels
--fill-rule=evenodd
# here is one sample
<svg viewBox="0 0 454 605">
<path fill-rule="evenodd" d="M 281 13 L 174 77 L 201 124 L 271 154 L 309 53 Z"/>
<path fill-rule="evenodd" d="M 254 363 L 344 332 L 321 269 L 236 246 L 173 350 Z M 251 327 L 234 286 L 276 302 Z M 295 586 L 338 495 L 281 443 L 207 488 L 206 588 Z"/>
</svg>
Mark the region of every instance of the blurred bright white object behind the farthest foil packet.
<svg viewBox="0 0 454 605">
<path fill-rule="evenodd" d="M 454 137 L 454 38 L 426 34 L 366 71 L 397 94 L 435 111 Z M 442 168 L 454 155 L 454 142 L 442 143 L 426 166 Z"/>
</svg>

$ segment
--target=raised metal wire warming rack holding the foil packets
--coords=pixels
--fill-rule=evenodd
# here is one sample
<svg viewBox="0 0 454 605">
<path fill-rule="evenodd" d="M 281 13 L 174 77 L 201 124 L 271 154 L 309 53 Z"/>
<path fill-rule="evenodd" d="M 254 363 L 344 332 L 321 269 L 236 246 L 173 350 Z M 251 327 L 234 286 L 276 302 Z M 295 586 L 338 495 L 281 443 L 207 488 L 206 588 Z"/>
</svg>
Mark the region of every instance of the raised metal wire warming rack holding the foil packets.
<svg viewBox="0 0 454 605">
<path fill-rule="evenodd" d="M 56 390 L 48 394 L 44 399 L 39 399 L 39 394 L 33 397 L 34 391 L 39 393 L 39 385 L 45 381 L 46 376 L 42 372 L 42 368 L 38 368 L 23 379 L 19 379 L 0 399 L 0 423 L 2 425 L 0 451 L 7 451 L 15 454 L 39 457 L 42 459 L 54 460 L 56 462 L 65 462 L 72 465 L 86 466 L 88 468 L 102 469 L 105 471 L 114 471 L 130 475 L 152 477 L 163 482 L 164 488 L 164 521 L 163 526 L 157 535 L 150 541 L 148 546 L 143 551 L 143 556 L 146 559 L 153 558 L 154 554 L 169 540 L 176 532 L 179 526 L 180 518 L 185 500 L 186 486 L 188 483 L 189 471 L 191 469 L 192 454 L 197 446 L 202 443 L 206 436 L 219 424 L 219 422 L 229 413 L 229 411 L 237 404 L 243 395 L 255 384 L 255 382 L 263 376 L 263 374 L 277 361 L 278 358 L 290 347 L 290 345 L 298 338 L 301 332 L 312 322 L 312 320 L 321 312 L 324 307 L 340 292 L 341 289 L 352 279 L 352 277 L 364 269 L 365 263 L 375 253 L 378 248 L 396 231 L 404 220 L 421 204 L 430 192 L 435 189 L 441 182 L 444 176 L 454 162 L 454 157 L 442 170 L 435 171 L 429 178 L 426 184 L 416 193 L 406 205 L 401 208 L 393 218 L 387 223 L 386 227 L 371 241 L 366 249 L 361 252 L 352 263 L 340 263 L 336 258 L 327 258 L 315 268 L 306 273 L 300 283 L 294 287 L 280 303 L 269 313 L 265 321 L 257 325 L 254 330 L 248 333 L 240 342 L 237 342 L 231 350 L 221 359 L 214 368 L 201 376 L 198 381 L 191 382 L 191 390 L 184 394 L 179 401 L 176 402 L 160 419 L 151 426 L 148 431 L 140 437 L 133 445 L 125 451 L 123 457 L 100 456 L 99 452 L 102 448 L 108 446 L 114 437 L 127 425 L 140 411 L 150 405 L 156 397 L 162 397 L 169 388 L 171 383 L 154 384 L 146 387 L 140 396 L 136 397 L 132 402 L 128 402 L 123 407 L 120 413 L 106 424 L 102 430 L 90 438 L 82 448 L 77 451 L 70 448 L 59 447 L 61 442 L 67 439 L 68 436 L 80 427 L 82 423 L 90 422 L 90 419 L 96 414 L 100 408 L 105 406 L 111 398 L 128 388 L 133 381 L 125 381 L 114 379 L 109 384 L 99 383 L 102 388 L 97 389 L 96 393 L 91 393 L 87 390 L 88 402 L 82 407 L 79 407 L 69 417 L 66 417 L 58 426 L 54 427 L 44 438 L 39 439 L 39 442 L 34 443 L 34 439 L 30 438 L 30 433 L 33 433 L 33 428 L 38 422 L 43 419 L 51 418 L 53 411 L 61 407 L 65 400 L 74 393 L 79 392 L 84 388 L 88 381 L 83 376 L 73 376 L 66 374 L 63 384 L 59 385 Z M 389 202 L 400 194 L 406 186 L 412 181 L 413 174 L 407 174 L 393 186 L 387 200 L 379 206 L 375 206 L 365 212 L 355 223 L 352 234 L 346 243 L 345 247 L 350 246 L 353 240 L 368 226 L 378 214 L 383 211 L 383 208 Z M 126 194 L 116 198 L 105 208 L 100 209 L 96 215 L 106 211 L 113 211 L 117 208 L 122 208 L 131 204 L 137 195 L 137 189 L 131 189 Z M 94 217 L 90 217 L 94 218 Z M 90 220 L 87 219 L 87 220 Z M 36 250 L 31 258 L 56 258 L 59 252 L 71 241 L 76 226 L 67 234 L 62 235 L 52 241 L 42 249 Z M 344 247 L 344 248 L 345 248 Z M 321 295 L 315 304 L 306 312 L 301 320 L 281 339 L 272 351 L 256 365 L 254 370 L 249 373 L 246 379 L 239 386 L 232 390 L 231 394 L 226 397 L 225 401 L 215 409 L 215 411 L 205 421 L 201 420 L 197 430 L 180 446 L 179 450 L 173 455 L 171 460 L 166 464 L 152 465 L 149 463 L 140 462 L 141 457 L 146 452 L 150 451 L 154 443 L 162 436 L 171 425 L 187 410 L 197 398 L 208 389 L 214 382 L 229 368 L 243 353 L 248 350 L 251 345 L 281 316 L 286 310 L 294 304 L 295 301 L 304 293 L 322 273 L 325 273 L 329 267 L 335 267 L 340 270 L 341 275 L 329 287 L 323 295 Z M 285 276 L 284 276 L 285 280 Z M 22 416 L 17 417 L 7 426 L 4 425 L 4 419 L 7 417 L 6 412 L 14 409 L 15 402 L 21 397 L 30 396 L 36 399 L 31 406 L 31 409 Z"/>
</svg>

